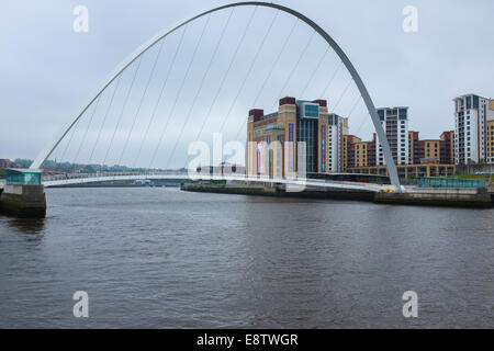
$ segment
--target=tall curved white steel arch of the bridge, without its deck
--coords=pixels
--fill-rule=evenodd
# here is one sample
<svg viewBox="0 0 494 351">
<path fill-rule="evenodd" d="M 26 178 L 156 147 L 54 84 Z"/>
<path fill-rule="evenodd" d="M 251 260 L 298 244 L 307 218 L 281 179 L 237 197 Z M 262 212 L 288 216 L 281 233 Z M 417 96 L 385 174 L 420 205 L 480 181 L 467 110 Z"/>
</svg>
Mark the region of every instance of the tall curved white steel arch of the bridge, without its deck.
<svg viewBox="0 0 494 351">
<path fill-rule="evenodd" d="M 388 167 L 388 171 L 390 174 L 390 180 L 392 185 L 395 188 L 396 191 L 401 191 L 400 186 L 400 179 L 397 177 L 396 172 L 396 166 L 393 160 L 393 156 L 391 154 L 390 145 L 388 143 L 386 135 L 384 133 L 384 129 L 381 125 L 381 122 L 379 120 L 378 112 L 375 111 L 375 105 L 372 102 L 372 99 L 369 95 L 369 92 L 363 84 L 363 81 L 361 80 L 359 73 L 357 72 L 356 68 L 351 64 L 351 61 L 348 59 L 347 55 L 344 53 L 344 50 L 339 47 L 339 45 L 327 34 L 321 26 L 318 26 L 315 22 L 313 22 L 311 19 L 306 18 L 302 13 L 292 10 L 290 8 L 271 3 L 271 2 L 262 2 L 262 1 L 243 1 L 243 2 L 235 2 L 235 3 L 228 3 L 224 4 L 211 10 L 202 11 L 195 14 L 194 16 L 190 18 L 189 20 L 178 22 L 177 24 L 173 24 L 169 26 L 168 29 L 165 29 L 160 31 L 157 35 L 145 42 L 143 45 L 141 45 L 137 49 L 135 49 L 130 56 L 127 56 L 119 66 L 113 69 L 112 72 L 110 72 L 106 78 L 100 83 L 100 86 L 88 97 L 88 99 L 82 103 L 82 105 L 77 110 L 76 114 L 67 122 L 66 125 L 60 129 L 60 132 L 55 136 L 53 141 L 47 144 L 44 149 L 37 155 L 36 159 L 31 165 L 32 169 L 38 169 L 43 165 L 43 162 L 52 155 L 53 150 L 58 146 L 58 144 L 61 141 L 61 139 L 67 135 L 67 133 L 70 131 L 70 128 L 79 121 L 79 118 L 83 115 L 83 113 L 89 109 L 89 106 L 92 104 L 92 102 L 98 99 L 98 97 L 106 89 L 108 86 L 112 83 L 113 80 L 119 77 L 119 75 L 127 68 L 134 60 L 136 60 L 141 55 L 146 53 L 150 47 L 153 47 L 156 43 L 168 36 L 169 34 L 173 33 L 178 29 L 182 27 L 187 23 L 190 23 L 199 18 L 202 18 L 209 13 L 216 12 L 220 10 L 228 9 L 228 8 L 236 8 L 236 7 L 265 7 L 265 8 L 272 8 L 277 9 L 283 12 L 287 12 L 291 15 L 294 15 L 299 20 L 305 22 L 308 24 L 314 31 L 316 31 L 328 44 L 329 46 L 335 50 L 335 53 L 338 55 L 338 57 L 344 63 L 345 67 L 347 68 L 348 72 L 350 73 L 351 78 L 353 79 L 357 88 L 359 89 L 359 92 L 366 103 L 366 106 L 369 111 L 369 114 L 372 118 L 372 123 L 374 124 L 375 133 L 378 135 L 378 138 L 381 143 L 382 150 L 384 154 L 384 160 Z"/>
</svg>

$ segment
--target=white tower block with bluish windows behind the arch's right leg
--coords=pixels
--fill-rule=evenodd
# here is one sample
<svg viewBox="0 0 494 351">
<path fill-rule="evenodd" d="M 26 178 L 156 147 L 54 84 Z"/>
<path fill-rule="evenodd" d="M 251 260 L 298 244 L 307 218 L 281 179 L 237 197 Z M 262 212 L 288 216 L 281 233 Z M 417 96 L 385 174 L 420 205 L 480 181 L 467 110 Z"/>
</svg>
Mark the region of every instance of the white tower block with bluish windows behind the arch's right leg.
<svg viewBox="0 0 494 351">
<path fill-rule="evenodd" d="M 396 165 L 408 165 L 408 107 L 378 109 Z M 377 165 L 385 165 L 381 143 L 377 138 Z"/>
</svg>

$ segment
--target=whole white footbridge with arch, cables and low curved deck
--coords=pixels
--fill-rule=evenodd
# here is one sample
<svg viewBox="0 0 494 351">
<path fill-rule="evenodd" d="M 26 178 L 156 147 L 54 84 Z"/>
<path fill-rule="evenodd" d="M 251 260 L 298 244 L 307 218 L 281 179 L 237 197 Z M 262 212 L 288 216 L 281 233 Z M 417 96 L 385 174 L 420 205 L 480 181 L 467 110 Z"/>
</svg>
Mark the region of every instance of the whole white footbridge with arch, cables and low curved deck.
<svg viewBox="0 0 494 351">
<path fill-rule="evenodd" d="M 356 68 L 353 67 L 353 65 L 351 64 L 351 61 L 348 59 L 347 55 L 343 52 L 343 49 L 340 48 L 340 46 L 332 38 L 332 36 L 324 31 L 319 25 L 317 25 L 315 22 L 313 22 L 311 19 L 306 18 L 305 15 L 303 15 L 302 13 L 290 9 L 288 7 L 283 7 L 280 4 L 276 4 L 276 3 L 269 3 L 269 2 L 258 2 L 258 1 L 245 1 L 245 2 L 236 2 L 236 3 L 229 3 L 229 4 L 225 4 L 225 5 L 221 5 L 211 10 L 206 10 L 206 11 L 202 11 L 184 21 L 180 21 L 177 24 L 171 25 L 168 29 L 165 29 L 162 31 L 160 31 L 158 34 L 156 34 L 154 37 L 149 38 L 147 42 L 145 42 L 143 45 L 141 45 L 136 50 L 134 50 L 127 58 L 125 58 L 120 65 L 117 65 L 112 72 L 110 72 L 106 78 L 103 79 L 103 81 L 100 83 L 100 86 L 87 98 L 87 100 L 81 104 L 81 106 L 76 111 L 76 113 L 70 116 L 67 120 L 67 123 L 61 127 L 61 129 L 59 131 L 59 133 L 54 137 L 54 139 L 48 143 L 43 150 L 37 155 L 37 157 L 35 158 L 34 162 L 31 166 L 31 169 L 36 170 L 36 169 L 42 169 L 43 168 L 43 163 L 53 155 L 54 150 L 60 145 L 60 143 L 66 139 L 66 138 L 71 138 L 70 136 L 70 132 L 72 131 L 72 135 L 75 133 L 75 128 L 77 128 L 78 122 L 80 118 L 82 118 L 82 116 L 89 111 L 89 109 L 92 106 L 94 110 L 98 109 L 98 103 L 100 101 L 100 98 L 102 95 L 102 93 L 108 89 L 108 87 L 110 84 L 112 84 L 112 82 L 116 81 L 116 89 L 119 88 L 119 83 L 122 77 L 122 73 L 133 64 L 138 61 L 138 65 L 141 65 L 141 59 L 142 56 L 148 52 L 150 48 L 157 46 L 157 45 L 162 45 L 162 41 L 169 36 L 170 34 L 172 34 L 173 32 L 177 32 L 178 30 L 182 29 L 182 27 L 187 27 L 187 25 L 189 23 L 192 23 L 203 16 L 210 15 L 211 13 L 214 12 L 218 12 L 218 11 L 224 11 L 227 9 L 233 9 L 234 8 L 240 8 L 240 7 L 250 7 L 250 8 L 268 8 L 268 9 L 272 9 L 277 11 L 277 15 L 278 12 L 283 12 L 287 13 L 289 15 L 292 15 L 294 18 L 296 18 L 296 21 L 302 21 L 303 23 L 305 23 L 306 25 L 308 25 L 315 33 L 317 33 L 328 45 L 329 47 L 334 50 L 334 53 L 336 53 L 336 55 L 339 57 L 339 59 L 341 60 L 341 64 L 344 65 L 344 67 L 347 69 L 348 73 L 351 76 L 351 80 L 355 82 L 361 99 L 363 100 L 366 107 L 368 110 L 368 113 L 372 120 L 373 126 L 375 128 L 375 133 L 377 133 L 377 137 L 380 140 L 380 144 L 382 146 L 382 151 L 383 151 L 383 156 L 384 156 L 384 161 L 385 165 L 388 166 L 388 170 L 389 170 L 389 174 L 390 174 L 390 179 L 391 179 L 391 184 L 392 184 L 392 189 L 396 192 L 401 192 L 402 191 L 402 186 L 400 185 L 400 180 L 396 173 L 396 168 L 395 168 L 395 163 L 393 160 L 393 156 L 391 154 L 390 150 L 390 145 L 388 143 L 386 139 L 386 135 L 383 131 L 383 127 L 381 125 L 380 118 L 377 114 L 377 110 L 374 106 L 374 103 L 372 102 L 372 99 L 370 98 L 370 94 L 366 88 L 366 86 L 363 84 L 359 73 L 357 72 Z M 252 14 L 254 15 L 254 14 Z M 207 18 L 209 21 L 209 18 Z M 229 21 L 229 19 L 228 19 Z M 207 22 L 206 22 L 207 24 Z M 225 26 L 226 29 L 226 26 Z M 224 29 L 224 30 L 225 30 Z M 204 33 L 204 32 L 203 32 Z M 222 37 L 223 37 L 222 33 Z M 183 37 L 183 33 L 182 33 L 182 37 Z M 200 41 L 202 39 L 202 35 Z M 221 41 L 221 38 L 220 38 Z M 199 45 L 199 44 L 198 44 Z M 217 47 L 216 47 L 217 48 Z M 159 48 L 159 50 L 161 50 L 161 47 Z M 160 53 L 160 52 L 159 52 Z M 158 56 L 159 56 L 158 53 Z M 195 52 L 194 52 L 195 55 Z M 212 61 L 214 60 L 214 54 L 212 57 Z M 193 59 L 191 60 L 192 64 Z M 211 64 L 211 63 L 210 63 Z M 156 66 L 156 63 L 155 63 Z M 138 70 L 137 66 L 137 70 Z M 189 67 L 190 68 L 190 67 Z M 136 70 L 136 73 L 137 73 Z M 170 68 L 171 70 L 171 68 Z M 153 72 L 154 72 L 154 68 L 151 70 L 151 76 L 149 76 L 149 80 L 153 77 Z M 187 77 L 186 72 L 186 77 Z M 205 77 L 205 75 L 204 75 Z M 135 77 L 134 77 L 135 79 Z M 168 77 L 167 77 L 168 79 Z M 134 83 L 134 81 L 133 81 Z M 201 87 L 202 88 L 202 87 Z M 132 87 L 131 87 L 132 89 Z M 147 89 L 147 86 L 146 86 Z M 145 89 L 145 93 L 146 93 L 146 89 Z M 179 92 L 181 91 L 182 87 L 180 87 Z M 112 101 L 113 101 L 113 97 L 114 97 L 114 92 L 112 95 Z M 128 94 L 127 97 L 128 98 Z M 139 112 L 141 106 L 142 106 L 142 102 L 143 102 L 144 95 L 141 99 L 141 101 L 137 102 L 138 104 L 138 109 L 137 111 Z M 178 99 L 178 98 L 177 98 Z M 112 102 L 111 101 L 111 102 Z M 110 102 L 110 103 L 111 103 Z M 125 100 L 124 105 L 127 104 L 127 101 Z M 110 109 L 110 107 L 109 107 Z M 175 109 L 175 105 L 173 105 Z M 108 111 L 106 111 L 108 114 Z M 138 113 L 137 113 L 138 114 Z M 136 115 L 137 115 L 136 114 Z M 151 120 L 154 118 L 154 114 L 151 116 Z M 137 118 L 136 118 L 137 120 Z M 88 124 L 88 128 L 86 129 L 86 134 L 88 134 L 90 124 L 91 124 L 92 117 L 89 121 Z M 131 127 L 131 131 L 128 132 L 128 136 L 131 135 L 131 133 L 133 132 L 133 129 L 135 128 L 135 124 L 141 123 L 141 121 L 134 121 Z M 187 123 L 187 122 L 186 122 Z M 103 125 L 104 125 L 104 121 L 103 121 Z M 102 125 L 102 127 L 103 127 Z M 150 125 L 150 123 L 149 123 Z M 117 132 L 117 128 L 122 127 L 121 125 L 119 125 L 119 123 L 116 124 L 115 131 L 113 133 L 113 136 L 111 137 L 111 143 L 113 141 L 114 135 Z M 143 143 L 146 139 L 146 136 L 148 134 L 149 131 L 149 126 L 147 128 L 147 131 L 144 133 L 143 135 Z M 182 131 L 183 132 L 183 131 Z M 180 136 L 182 135 L 182 132 L 180 133 Z M 81 145 L 79 146 L 79 150 L 78 154 L 80 151 L 80 149 L 85 148 L 85 147 L 89 147 L 87 145 L 85 145 L 85 140 L 87 138 L 87 135 L 83 135 L 83 138 L 81 140 Z M 101 134 L 101 129 L 98 132 L 98 138 L 97 138 L 97 144 L 98 140 L 100 139 L 100 134 Z M 161 135 L 162 137 L 162 135 Z M 69 140 L 70 141 L 70 140 Z M 128 141 L 128 137 L 126 138 L 126 141 Z M 161 143 L 161 139 L 159 140 Z M 110 144 L 111 144 L 110 143 Z M 177 144 L 176 144 L 177 145 Z M 110 145 L 111 147 L 111 145 Z M 125 143 L 125 145 L 123 146 L 123 150 L 122 154 L 125 151 L 125 148 L 127 147 L 127 143 Z M 142 145 L 141 145 L 142 148 Z M 175 150 L 175 148 L 173 148 Z M 141 150 L 139 150 L 141 152 Z M 156 151 L 155 151 L 156 154 Z M 91 154 L 92 155 L 92 154 Z M 106 150 L 106 155 L 108 155 L 108 150 Z M 149 167 L 149 169 L 151 169 Z M 148 172 L 143 172 L 142 174 L 136 174 L 136 173 L 127 173 L 127 174 L 104 174 L 104 173 L 98 173 L 98 174 L 83 174 L 83 176 L 79 176 L 79 177 L 58 177 L 58 178 L 48 178 L 44 180 L 44 184 L 46 186 L 52 186 L 52 185 L 60 185 L 60 184 L 76 184 L 76 183 L 87 183 L 87 182 L 94 182 L 94 181 L 103 181 L 103 180 L 133 180 L 133 179 L 177 179 L 177 178 L 187 178 L 187 176 L 183 174 L 170 174 L 169 172 L 155 172 L 155 171 L 148 171 Z M 214 177 L 214 179 L 216 179 L 217 177 Z M 223 179 L 225 180 L 231 180 L 228 178 L 223 177 Z M 350 182 L 330 182 L 330 181 L 326 181 L 326 182 L 317 182 L 317 181 L 311 181 L 307 179 L 272 179 L 272 178 L 256 178 L 256 177 L 248 177 L 248 176 L 240 176 L 240 177 L 234 177 L 232 178 L 232 180 L 245 180 L 245 181 L 261 181 L 261 182 L 271 182 L 271 183 L 303 183 L 303 184 L 310 184 L 310 185 L 318 185 L 318 186 L 326 186 L 326 188 L 348 188 L 348 189 L 366 189 L 366 190 L 370 190 L 370 191 L 380 191 L 382 190 L 385 185 L 374 185 L 374 184 L 352 184 Z M 389 185 L 388 185 L 389 186 Z"/>
</svg>

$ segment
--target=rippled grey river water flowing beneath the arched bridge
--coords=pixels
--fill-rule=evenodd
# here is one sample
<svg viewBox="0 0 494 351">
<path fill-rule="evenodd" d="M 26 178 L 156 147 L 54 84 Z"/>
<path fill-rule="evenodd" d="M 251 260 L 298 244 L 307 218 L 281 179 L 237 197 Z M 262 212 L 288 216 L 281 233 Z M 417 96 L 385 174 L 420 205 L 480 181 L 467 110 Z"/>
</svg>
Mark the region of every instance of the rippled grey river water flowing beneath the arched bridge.
<svg viewBox="0 0 494 351">
<path fill-rule="evenodd" d="M 493 210 L 46 192 L 46 219 L 0 216 L 2 328 L 494 327 Z"/>
</svg>

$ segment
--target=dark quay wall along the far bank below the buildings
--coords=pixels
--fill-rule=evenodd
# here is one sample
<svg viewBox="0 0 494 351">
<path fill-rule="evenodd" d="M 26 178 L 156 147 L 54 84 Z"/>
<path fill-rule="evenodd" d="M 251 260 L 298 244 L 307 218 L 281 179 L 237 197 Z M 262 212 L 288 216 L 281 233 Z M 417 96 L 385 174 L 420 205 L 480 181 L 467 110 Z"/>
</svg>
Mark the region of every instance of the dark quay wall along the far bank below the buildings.
<svg viewBox="0 0 494 351">
<path fill-rule="evenodd" d="M 405 193 L 375 193 L 372 191 L 356 191 L 307 186 L 300 192 L 288 192 L 284 185 L 263 186 L 262 184 L 206 184 L 184 183 L 180 188 L 189 192 L 207 192 L 222 194 L 242 194 L 277 197 L 304 197 L 326 200 L 364 201 L 377 204 L 414 205 L 414 206 L 448 206 L 448 207 L 493 207 L 493 196 L 481 189 L 424 189 L 409 188 Z"/>
</svg>

